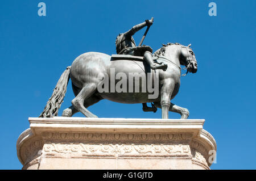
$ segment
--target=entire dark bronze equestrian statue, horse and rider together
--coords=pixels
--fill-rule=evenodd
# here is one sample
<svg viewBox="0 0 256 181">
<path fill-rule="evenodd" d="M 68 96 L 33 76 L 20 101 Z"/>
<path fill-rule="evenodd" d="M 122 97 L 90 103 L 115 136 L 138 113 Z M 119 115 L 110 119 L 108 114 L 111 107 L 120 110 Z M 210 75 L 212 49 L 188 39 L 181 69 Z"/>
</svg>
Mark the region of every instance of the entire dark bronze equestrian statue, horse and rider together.
<svg viewBox="0 0 256 181">
<path fill-rule="evenodd" d="M 187 119 L 187 108 L 179 107 L 171 103 L 171 100 L 179 91 L 181 65 L 185 66 L 183 69 L 187 69 L 187 73 L 196 73 L 195 53 L 191 49 L 191 44 L 184 46 L 179 43 L 168 43 L 163 44 L 152 54 L 152 48 L 142 45 L 142 42 L 153 22 L 154 19 L 151 18 L 119 34 L 115 40 L 117 54 L 109 56 L 100 52 L 87 52 L 77 57 L 61 74 L 51 98 L 39 117 L 58 115 L 70 78 L 75 98 L 71 102 L 72 106 L 66 108 L 62 116 L 71 117 L 81 112 L 86 117 L 97 117 L 88 110 L 88 107 L 102 99 L 108 99 L 126 104 L 142 103 L 145 112 L 156 112 L 157 108 L 162 108 L 162 119 L 168 119 L 168 111 L 180 113 L 181 119 Z M 147 30 L 142 40 L 136 46 L 132 36 L 146 26 Z M 130 79 L 130 74 L 140 77 Z M 146 83 L 143 83 L 143 77 L 146 78 Z M 154 87 L 155 92 L 159 94 L 154 92 L 156 96 L 152 96 L 152 90 L 148 85 Z M 114 90 L 115 86 L 121 87 L 123 91 Z M 129 91 L 125 90 L 126 87 L 129 87 Z M 147 103 L 151 103 L 152 107 L 148 107 Z"/>
</svg>

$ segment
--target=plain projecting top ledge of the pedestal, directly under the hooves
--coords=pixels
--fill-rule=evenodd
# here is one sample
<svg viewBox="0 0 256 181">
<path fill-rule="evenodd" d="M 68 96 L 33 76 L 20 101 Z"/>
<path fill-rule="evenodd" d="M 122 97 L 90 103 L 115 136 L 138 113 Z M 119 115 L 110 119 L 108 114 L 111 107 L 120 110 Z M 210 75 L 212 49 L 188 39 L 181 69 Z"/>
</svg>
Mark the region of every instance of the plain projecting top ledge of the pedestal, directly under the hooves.
<svg viewBox="0 0 256 181">
<path fill-rule="evenodd" d="M 86 132 L 178 132 L 180 130 L 198 134 L 204 120 L 181 119 L 123 119 L 86 117 L 30 117 L 32 131 L 85 131 Z"/>
</svg>

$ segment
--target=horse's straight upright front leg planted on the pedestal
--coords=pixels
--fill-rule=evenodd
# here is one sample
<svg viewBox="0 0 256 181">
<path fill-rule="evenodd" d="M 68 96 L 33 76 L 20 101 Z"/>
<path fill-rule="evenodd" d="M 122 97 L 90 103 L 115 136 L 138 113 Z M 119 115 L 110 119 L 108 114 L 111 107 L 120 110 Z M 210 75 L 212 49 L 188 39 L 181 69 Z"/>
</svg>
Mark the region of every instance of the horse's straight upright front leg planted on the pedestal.
<svg viewBox="0 0 256 181">
<path fill-rule="evenodd" d="M 174 80 L 173 79 L 166 79 L 164 80 L 163 86 L 160 91 L 161 101 L 160 105 L 162 108 L 162 119 L 168 119 L 168 113 L 170 108 L 170 100 L 172 91 L 174 91 Z"/>
</svg>

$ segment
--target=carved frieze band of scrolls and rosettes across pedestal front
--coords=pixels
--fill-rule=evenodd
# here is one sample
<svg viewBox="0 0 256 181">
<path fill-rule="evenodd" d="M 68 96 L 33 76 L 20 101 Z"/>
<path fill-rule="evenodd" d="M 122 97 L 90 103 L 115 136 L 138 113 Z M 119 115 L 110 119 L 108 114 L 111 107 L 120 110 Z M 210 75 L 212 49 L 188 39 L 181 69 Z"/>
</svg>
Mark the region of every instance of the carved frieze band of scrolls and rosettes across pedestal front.
<svg viewBox="0 0 256 181">
<path fill-rule="evenodd" d="M 130 144 L 119 142 L 113 143 L 46 143 L 44 144 L 44 153 L 65 153 L 105 157 L 130 157 L 145 156 L 148 157 L 174 157 L 178 155 L 189 156 L 191 151 L 189 145 L 168 145 L 168 144 Z"/>
</svg>

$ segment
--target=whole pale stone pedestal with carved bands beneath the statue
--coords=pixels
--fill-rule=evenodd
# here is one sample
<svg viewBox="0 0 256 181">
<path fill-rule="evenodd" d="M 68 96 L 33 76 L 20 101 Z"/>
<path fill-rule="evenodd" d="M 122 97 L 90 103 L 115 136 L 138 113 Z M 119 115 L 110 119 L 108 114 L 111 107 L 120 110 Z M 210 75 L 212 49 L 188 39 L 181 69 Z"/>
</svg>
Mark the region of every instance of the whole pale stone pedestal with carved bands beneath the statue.
<svg viewBox="0 0 256 181">
<path fill-rule="evenodd" d="M 30 117 L 16 149 L 23 169 L 209 169 L 204 120 Z"/>
</svg>

